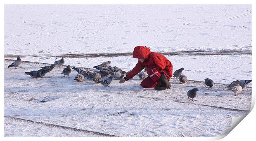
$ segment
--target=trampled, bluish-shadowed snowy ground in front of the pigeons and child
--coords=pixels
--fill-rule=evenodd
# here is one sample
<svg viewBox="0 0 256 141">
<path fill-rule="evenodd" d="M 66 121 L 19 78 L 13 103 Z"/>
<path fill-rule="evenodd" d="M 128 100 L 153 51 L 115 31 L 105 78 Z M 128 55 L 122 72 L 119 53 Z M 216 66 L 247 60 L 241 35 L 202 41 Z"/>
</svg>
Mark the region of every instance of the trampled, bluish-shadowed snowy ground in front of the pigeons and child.
<svg viewBox="0 0 256 141">
<path fill-rule="evenodd" d="M 77 74 L 75 71 L 71 72 L 71 79 L 62 78 L 62 68 L 58 67 L 43 78 L 31 79 L 23 73 L 40 69 L 42 64 L 24 62 L 21 68 L 10 69 L 7 68 L 9 63 L 5 61 L 7 117 L 116 136 L 221 136 L 230 131 L 233 116 L 244 116 L 251 107 L 249 87 L 238 97 L 227 90 L 226 85 L 205 88 L 203 82 L 180 84 L 177 79 L 171 79 L 171 89 L 165 91 L 141 88 L 138 77 L 125 84 L 113 80 L 111 87 L 104 87 L 91 80 L 76 82 L 73 80 Z M 186 99 L 187 91 L 192 88 L 199 88 L 194 102 Z M 33 124 L 20 127 L 18 122 L 15 130 L 13 124 L 17 121 L 6 120 L 5 136 L 81 134 L 65 135 L 57 131 L 40 134 L 41 126 L 38 132 L 31 134 L 26 130 L 34 129 Z"/>
</svg>

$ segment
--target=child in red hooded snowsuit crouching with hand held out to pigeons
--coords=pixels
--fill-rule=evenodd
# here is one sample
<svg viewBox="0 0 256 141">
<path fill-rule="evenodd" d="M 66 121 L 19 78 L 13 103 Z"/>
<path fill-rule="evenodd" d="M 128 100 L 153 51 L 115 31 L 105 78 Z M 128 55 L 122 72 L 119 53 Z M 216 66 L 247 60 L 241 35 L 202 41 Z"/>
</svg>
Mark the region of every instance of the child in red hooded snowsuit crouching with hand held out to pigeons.
<svg viewBox="0 0 256 141">
<path fill-rule="evenodd" d="M 140 83 L 140 86 L 154 87 L 155 90 L 165 90 L 171 87 L 169 79 L 173 76 L 173 65 L 164 55 L 151 52 L 146 46 L 136 46 L 133 58 L 138 59 L 136 66 L 119 83 L 125 83 L 145 68 L 149 76 Z"/>
</svg>

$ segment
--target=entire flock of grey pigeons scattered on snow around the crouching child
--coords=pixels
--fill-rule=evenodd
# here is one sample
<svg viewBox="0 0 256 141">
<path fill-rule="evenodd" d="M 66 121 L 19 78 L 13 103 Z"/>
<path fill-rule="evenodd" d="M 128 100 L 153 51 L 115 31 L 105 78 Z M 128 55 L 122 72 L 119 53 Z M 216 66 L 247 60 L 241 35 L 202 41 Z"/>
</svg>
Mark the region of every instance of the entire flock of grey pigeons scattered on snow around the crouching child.
<svg viewBox="0 0 256 141">
<path fill-rule="evenodd" d="M 52 69 L 56 66 L 62 67 L 64 65 L 64 62 L 65 62 L 64 58 L 62 57 L 62 59 L 55 61 L 53 65 L 41 67 L 42 69 L 39 69 L 37 71 L 25 72 L 24 74 L 30 75 L 33 79 L 37 79 L 38 77 L 45 76 L 46 73 L 49 73 L 50 71 L 52 71 Z M 15 60 L 11 65 L 9 65 L 8 68 L 9 67 L 16 68 L 16 67 L 19 67 L 20 64 L 21 64 L 21 58 L 20 56 L 17 56 L 17 60 Z M 87 78 L 87 79 L 92 79 L 95 83 L 101 83 L 102 85 L 109 87 L 109 84 L 111 83 L 113 78 L 122 79 L 124 75 L 130 72 L 130 71 L 125 72 L 116 66 L 111 67 L 110 64 L 111 64 L 111 61 L 107 61 L 107 62 L 103 62 L 100 65 L 94 66 L 95 70 L 93 72 L 72 67 L 72 69 L 78 72 L 74 80 L 76 80 L 77 82 L 83 82 L 84 79 Z M 187 76 L 182 74 L 183 70 L 184 68 L 180 68 L 173 73 L 173 77 L 174 78 L 177 77 L 180 83 L 187 82 Z M 70 73 L 71 73 L 71 68 L 70 68 L 70 65 L 68 65 L 66 68 L 63 69 L 61 74 L 64 74 L 63 77 L 65 77 L 65 75 L 69 76 Z M 147 72 L 143 70 L 138 74 L 138 76 L 140 79 L 145 79 L 148 75 L 147 75 Z M 235 96 L 238 96 L 237 94 L 241 93 L 243 88 L 247 86 L 250 82 L 251 80 L 240 80 L 240 81 L 237 80 L 230 83 L 226 88 L 228 88 L 229 90 L 232 90 L 233 92 L 235 92 Z M 212 88 L 214 84 L 213 80 L 208 78 L 204 79 L 204 83 L 205 83 L 205 87 L 209 86 L 210 88 Z M 198 88 L 193 88 L 192 90 L 189 90 L 187 92 L 187 96 L 188 96 L 187 99 L 192 98 L 192 101 L 194 101 L 194 98 L 197 96 L 197 91 L 199 91 Z"/>
</svg>

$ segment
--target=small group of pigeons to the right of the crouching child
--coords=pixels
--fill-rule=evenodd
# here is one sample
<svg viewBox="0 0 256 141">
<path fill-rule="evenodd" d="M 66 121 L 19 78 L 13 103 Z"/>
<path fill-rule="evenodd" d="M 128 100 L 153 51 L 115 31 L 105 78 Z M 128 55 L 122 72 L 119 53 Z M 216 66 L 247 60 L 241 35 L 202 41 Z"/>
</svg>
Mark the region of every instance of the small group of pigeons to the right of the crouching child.
<svg viewBox="0 0 256 141">
<path fill-rule="evenodd" d="M 180 81 L 180 83 L 186 83 L 187 82 L 187 76 L 182 74 L 182 71 L 184 70 L 184 68 L 180 68 L 178 70 L 176 70 L 173 73 L 173 77 L 177 77 Z M 238 96 L 238 93 L 241 93 L 243 88 L 245 86 L 247 86 L 249 83 L 251 82 L 251 80 L 237 80 L 237 81 L 233 81 L 232 83 L 230 83 L 226 88 L 228 88 L 228 90 L 232 90 L 233 92 L 235 92 L 235 96 Z M 205 83 L 205 87 L 209 86 L 210 88 L 213 87 L 213 80 L 211 79 L 204 79 L 204 83 Z M 192 90 L 189 90 L 187 92 L 187 99 L 192 98 L 192 101 L 194 101 L 194 97 L 197 96 L 197 91 L 198 88 L 193 88 Z"/>
</svg>

